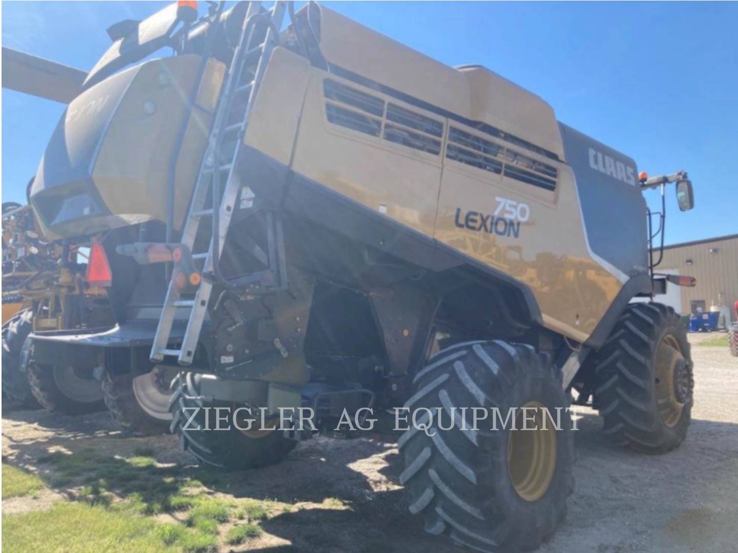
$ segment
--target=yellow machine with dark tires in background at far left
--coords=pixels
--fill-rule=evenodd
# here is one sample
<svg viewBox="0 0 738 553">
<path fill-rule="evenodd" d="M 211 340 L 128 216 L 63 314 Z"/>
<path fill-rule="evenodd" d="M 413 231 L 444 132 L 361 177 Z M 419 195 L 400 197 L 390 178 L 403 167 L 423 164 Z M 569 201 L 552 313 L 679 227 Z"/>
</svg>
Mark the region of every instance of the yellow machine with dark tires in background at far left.
<svg viewBox="0 0 738 553">
<path fill-rule="evenodd" d="M 107 293 L 86 284 L 83 257 L 45 240 L 31 206 L 3 204 L 2 391 L 21 404 L 70 414 L 103 408 L 94 363 L 39 371 L 28 339 L 32 331 L 108 323 Z"/>
</svg>

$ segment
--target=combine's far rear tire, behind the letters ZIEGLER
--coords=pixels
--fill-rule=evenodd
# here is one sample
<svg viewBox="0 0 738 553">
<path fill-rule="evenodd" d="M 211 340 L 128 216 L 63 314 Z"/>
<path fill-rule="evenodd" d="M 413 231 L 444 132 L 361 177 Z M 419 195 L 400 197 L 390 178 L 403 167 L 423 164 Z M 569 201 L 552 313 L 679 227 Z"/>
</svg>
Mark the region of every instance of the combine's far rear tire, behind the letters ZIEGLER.
<svg viewBox="0 0 738 553">
<path fill-rule="evenodd" d="M 230 413 L 235 411 L 234 404 L 208 401 L 201 397 L 199 381 L 199 375 L 188 372 L 176 382 L 171 399 L 171 430 L 179 437 L 182 449 L 189 451 L 202 465 L 227 470 L 276 465 L 297 445 L 296 441 L 286 438 L 283 431 L 274 428 L 273 425 L 278 421 L 273 422 L 272 428 L 238 430 L 231 424 Z M 215 411 L 212 409 L 206 422 L 204 408 L 207 407 L 229 408 L 227 420 L 221 422 L 221 428 L 227 430 L 213 429 Z M 195 417 L 190 421 L 193 414 Z M 254 418 L 257 419 L 254 426 L 260 425 L 258 414 L 254 414 Z M 243 421 L 238 425 L 246 428 Z M 267 426 L 270 426 L 269 421 Z"/>
</svg>

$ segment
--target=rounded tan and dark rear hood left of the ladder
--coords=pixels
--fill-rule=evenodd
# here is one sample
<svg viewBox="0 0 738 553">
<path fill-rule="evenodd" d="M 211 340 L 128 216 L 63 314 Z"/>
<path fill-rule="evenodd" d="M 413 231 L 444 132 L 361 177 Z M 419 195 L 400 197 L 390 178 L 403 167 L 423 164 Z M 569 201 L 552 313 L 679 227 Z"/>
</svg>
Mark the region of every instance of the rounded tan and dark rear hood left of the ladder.
<svg viewBox="0 0 738 553">
<path fill-rule="evenodd" d="M 187 100 L 200 63 L 198 55 L 149 60 L 69 104 L 31 189 L 46 237 L 165 221 L 170 164 L 187 125 L 175 171 L 173 223 L 182 226 L 225 70 L 223 63 L 208 61 L 190 112 Z"/>
</svg>

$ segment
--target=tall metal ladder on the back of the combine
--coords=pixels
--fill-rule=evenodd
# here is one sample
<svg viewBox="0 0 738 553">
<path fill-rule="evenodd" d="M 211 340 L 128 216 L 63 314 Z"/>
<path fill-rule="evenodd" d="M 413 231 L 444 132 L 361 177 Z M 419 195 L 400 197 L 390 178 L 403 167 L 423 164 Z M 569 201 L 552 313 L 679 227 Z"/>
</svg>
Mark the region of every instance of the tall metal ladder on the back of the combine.
<svg viewBox="0 0 738 553">
<path fill-rule="evenodd" d="M 241 157 L 242 143 L 246 126 L 249 123 L 249 114 L 252 111 L 256 94 L 258 93 L 261 80 L 263 79 L 266 65 L 272 54 L 279 37 L 276 34 L 282 25 L 286 10 L 286 1 L 275 1 L 271 9 L 261 12 L 261 2 L 252 1 L 244 18 L 244 27 L 241 29 L 241 38 L 236 46 L 230 68 L 228 69 L 225 84 L 221 90 L 218 106 L 215 108 L 213 125 L 208 139 L 200 170 L 193 189 L 190 209 L 182 229 L 182 246 L 191 252 L 194 262 L 203 262 L 202 279 L 194 293 L 194 299 L 180 299 L 182 288 L 176 282 L 176 271 L 172 271 L 167 296 L 156 327 L 154 344 L 151 347 L 151 361 L 161 362 L 165 355 L 176 356 L 179 364 L 190 365 L 193 362 L 195 349 L 198 343 L 202 324 L 207 315 L 207 304 L 210 301 L 210 293 L 213 291 L 214 267 L 213 251 L 215 258 L 219 259 L 223 249 L 228 227 L 235 209 L 235 201 L 238 198 L 240 179 L 234 172 L 238 170 Z M 252 46 L 255 42 L 255 29 L 258 21 L 267 20 L 266 34 L 263 42 L 258 46 Z M 263 27 L 262 27 L 263 28 Z M 256 60 L 255 69 L 252 63 Z M 251 68 L 251 69 L 249 69 Z M 248 94 L 245 110 L 232 110 L 233 100 Z M 233 112 L 233 113 L 232 113 Z M 238 116 L 238 121 L 233 122 Z M 224 137 L 235 138 L 235 150 L 228 154 L 227 160 L 221 160 L 221 148 L 224 145 Z M 220 177 L 225 176 L 225 186 L 220 197 L 220 204 L 216 207 L 216 198 L 220 196 Z M 212 188 L 211 188 L 212 186 Z M 206 208 L 208 191 L 212 190 L 212 205 Z M 216 214 L 214 209 L 218 209 Z M 218 229 L 213 228 L 210 238 L 210 246 L 207 251 L 193 251 L 195 237 L 204 218 L 215 218 L 217 216 Z M 213 225 L 215 226 L 215 225 Z M 168 349 L 170 335 L 178 308 L 188 307 L 190 309 L 187 321 L 187 329 L 184 331 L 182 344 L 179 348 Z"/>
</svg>

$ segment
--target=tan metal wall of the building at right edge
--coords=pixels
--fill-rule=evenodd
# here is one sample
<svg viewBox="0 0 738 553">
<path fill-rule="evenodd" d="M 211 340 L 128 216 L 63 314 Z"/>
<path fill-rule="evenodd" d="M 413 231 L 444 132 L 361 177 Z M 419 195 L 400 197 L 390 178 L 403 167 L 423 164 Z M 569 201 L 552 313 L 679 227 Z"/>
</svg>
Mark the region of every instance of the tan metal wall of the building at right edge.
<svg viewBox="0 0 738 553">
<path fill-rule="evenodd" d="M 687 260 L 692 260 L 692 264 L 688 265 Z M 656 271 L 660 269 L 677 269 L 679 274 L 697 279 L 694 288 L 681 289 L 686 313 L 692 300 L 703 300 L 706 310 L 710 310 L 713 302 L 719 304 L 722 292 L 723 303 L 730 308 L 731 319 L 736 320 L 733 305 L 738 300 L 738 234 L 664 248 L 663 261 Z"/>
</svg>

